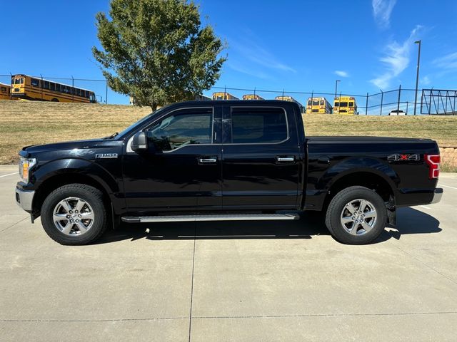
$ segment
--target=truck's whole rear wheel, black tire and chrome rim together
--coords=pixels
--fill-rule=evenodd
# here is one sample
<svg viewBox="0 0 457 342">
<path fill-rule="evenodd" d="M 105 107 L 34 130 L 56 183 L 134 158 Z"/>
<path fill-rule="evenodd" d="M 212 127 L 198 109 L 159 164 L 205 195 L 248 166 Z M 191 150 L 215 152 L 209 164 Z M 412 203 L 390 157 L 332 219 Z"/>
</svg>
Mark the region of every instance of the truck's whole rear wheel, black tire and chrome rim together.
<svg viewBox="0 0 457 342">
<path fill-rule="evenodd" d="M 386 227 L 384 201 L 366 187 L 347 187 L 328 205 L 326 226 L 343 244 L 369 244 Z"/>
</svg>

